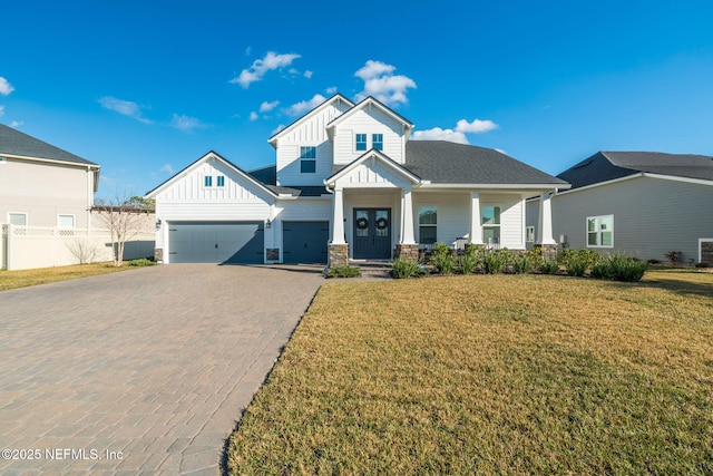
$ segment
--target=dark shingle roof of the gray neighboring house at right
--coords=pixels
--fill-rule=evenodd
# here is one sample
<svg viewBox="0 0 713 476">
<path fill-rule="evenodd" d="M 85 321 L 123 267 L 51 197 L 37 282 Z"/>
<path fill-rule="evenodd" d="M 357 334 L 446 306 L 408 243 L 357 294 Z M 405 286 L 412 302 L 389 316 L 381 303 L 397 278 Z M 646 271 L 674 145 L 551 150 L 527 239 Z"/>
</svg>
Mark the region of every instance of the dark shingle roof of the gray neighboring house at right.
<svg viewBox="0 0 713 476">
<path fill-rule="evenodd" d="M 713 181 L 713 157 L 660 152 L 597 152 L 557 175 L 573 188 L 639 173 Z"/>
</svg>

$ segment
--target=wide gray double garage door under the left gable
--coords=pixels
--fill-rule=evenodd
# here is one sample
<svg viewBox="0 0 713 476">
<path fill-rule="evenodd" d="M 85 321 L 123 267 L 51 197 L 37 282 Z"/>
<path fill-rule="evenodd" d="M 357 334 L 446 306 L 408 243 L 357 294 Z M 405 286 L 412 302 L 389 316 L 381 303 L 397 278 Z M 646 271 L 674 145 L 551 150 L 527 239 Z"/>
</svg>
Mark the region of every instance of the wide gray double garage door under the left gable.
<svg viewBox="0 0 713 476">
<path fill-rule="evenodd" d="M 170 263 L 264 262 L 262 222 L 180 222 L 168 227 Z"/>
</svg>

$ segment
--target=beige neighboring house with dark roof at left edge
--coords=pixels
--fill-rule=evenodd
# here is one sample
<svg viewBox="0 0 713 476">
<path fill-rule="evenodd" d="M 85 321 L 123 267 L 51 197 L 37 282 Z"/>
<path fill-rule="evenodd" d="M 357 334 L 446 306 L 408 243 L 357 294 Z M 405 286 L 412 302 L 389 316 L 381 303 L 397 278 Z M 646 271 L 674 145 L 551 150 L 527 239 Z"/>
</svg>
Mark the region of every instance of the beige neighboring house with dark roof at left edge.
<svg viewBox="0 0 713 476">
<path fill-rule="evenodd" d="M 0 124 L 0 223 L 90 227 L 99 165 Z"/>
</svg>

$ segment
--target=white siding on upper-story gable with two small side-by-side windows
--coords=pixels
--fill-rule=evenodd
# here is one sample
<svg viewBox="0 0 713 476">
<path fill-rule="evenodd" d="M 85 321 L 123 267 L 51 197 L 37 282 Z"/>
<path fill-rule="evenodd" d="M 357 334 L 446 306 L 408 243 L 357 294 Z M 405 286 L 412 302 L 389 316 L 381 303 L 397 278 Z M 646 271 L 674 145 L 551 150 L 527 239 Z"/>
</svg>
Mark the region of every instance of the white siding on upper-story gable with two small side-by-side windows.
<svg viewBox="0 0 713 476">
<path fill-rule="evenodd" d="M 373 147 L 372 134 L 382 134 L 383 154 L 403 164 L 403 125 L 375 107 L 365 107 L 335 127 L 334 165 L 350 164 L 364 154 L 365 150 L 355 149 L 356 134 L 367 134 L 367 150 Z"/>
</svg>

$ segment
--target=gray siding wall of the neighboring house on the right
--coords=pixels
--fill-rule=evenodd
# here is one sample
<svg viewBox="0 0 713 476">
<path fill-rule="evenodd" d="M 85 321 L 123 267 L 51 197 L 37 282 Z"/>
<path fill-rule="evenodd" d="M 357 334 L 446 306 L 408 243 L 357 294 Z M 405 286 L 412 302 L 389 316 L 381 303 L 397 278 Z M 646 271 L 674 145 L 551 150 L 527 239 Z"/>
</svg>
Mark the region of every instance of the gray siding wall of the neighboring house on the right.
<svg viewBox="0 0 713 476">
<path fill-rule="evenodd" d="M 713 236 L 713 186 L 686 179 L 638 176 L 553 198 L 555 237 L 586 246 L 586 220 L 614 216 L 614 246 L 642 260 L 665 261 L 668 251 L 697 261 L 699 240 Z"/>
</svg>

